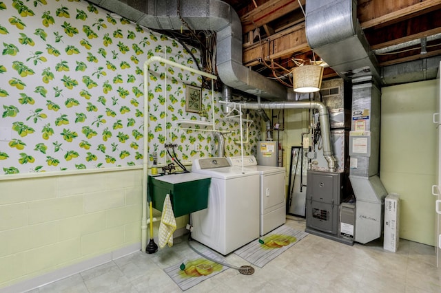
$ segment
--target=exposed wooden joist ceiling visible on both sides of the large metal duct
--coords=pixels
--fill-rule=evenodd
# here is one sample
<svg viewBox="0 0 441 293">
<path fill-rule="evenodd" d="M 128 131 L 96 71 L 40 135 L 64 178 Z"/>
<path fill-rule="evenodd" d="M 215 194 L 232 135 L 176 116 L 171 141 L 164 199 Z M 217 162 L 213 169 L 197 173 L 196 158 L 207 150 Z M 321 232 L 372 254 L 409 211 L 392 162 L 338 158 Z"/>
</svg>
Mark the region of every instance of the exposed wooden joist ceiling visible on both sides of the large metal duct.
<svg viewBox="0 0 441 293">
<path fill-rule="evenodd" d="M 305 28 L 297 30 L 300 23 L 305 25 L 305 17 L 297 0 L 225 1 L 237 8 L 242 22 L 245 66 L 272 76 L 271 69 L 265 67 L 264 61 L 267 65 L 274 61 L 291 69 L 295 66 L 292 58 L 309 60 L 312 56 Z M 302 5 L 306 1 L 302 0 Z M 372 50 L 441 33 L 441 0 L 358 0 L 356 3 L 358 21 Z M 377 55 L 378 62 L 385 66 L 440 56 L 441 45 L 438 43 L 441 40 L 428 42 L 428 53 L 424 55 L 420 54 L 419 45 L 408 50 L 410 45 L 407 44 L 402 50 L 396 50 L 401 52 Z M 336 73 L 329 67 L 325 69 L 324 78 L 331 76 L 336 76 Z"/>
</svg>

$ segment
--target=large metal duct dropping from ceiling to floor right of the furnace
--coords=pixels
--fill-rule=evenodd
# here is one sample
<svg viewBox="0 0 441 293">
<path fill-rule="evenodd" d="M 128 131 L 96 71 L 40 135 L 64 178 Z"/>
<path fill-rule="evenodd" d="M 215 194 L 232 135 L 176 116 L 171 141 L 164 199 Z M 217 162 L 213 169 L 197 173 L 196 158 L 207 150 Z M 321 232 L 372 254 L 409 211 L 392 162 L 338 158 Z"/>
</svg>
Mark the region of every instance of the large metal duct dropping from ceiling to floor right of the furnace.
<svg viewBox="0 0 441 293">
<path fill-rule="evenodd" d="M 356 0 L 308 0 L 309 46 L 337 74 L 352 82 L 349 180 L 357 199 L 355 241 L 382 235 L 386 189 L 378 177 L 380 153 L 380 70 L 357 19 Z M 365 131 L 356 131 L 356 121 Z M 362 142 L 362 149 L 358 149 Z"/>
</svg>

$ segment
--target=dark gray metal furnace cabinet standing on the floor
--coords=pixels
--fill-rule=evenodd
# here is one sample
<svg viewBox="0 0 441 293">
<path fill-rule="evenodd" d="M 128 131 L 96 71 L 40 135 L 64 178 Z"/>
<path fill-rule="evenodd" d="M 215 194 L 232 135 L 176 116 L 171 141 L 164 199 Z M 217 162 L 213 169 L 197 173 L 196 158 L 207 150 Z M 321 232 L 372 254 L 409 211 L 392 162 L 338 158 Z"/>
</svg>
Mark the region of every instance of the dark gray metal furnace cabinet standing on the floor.
<svg viewBox="0 0 441 293">
<path fill-rule="evenodd" d="M 308 171 L 306 191 L 306 232 L 353 244 L 339 233 L 344 173 Z"/>
</svg>

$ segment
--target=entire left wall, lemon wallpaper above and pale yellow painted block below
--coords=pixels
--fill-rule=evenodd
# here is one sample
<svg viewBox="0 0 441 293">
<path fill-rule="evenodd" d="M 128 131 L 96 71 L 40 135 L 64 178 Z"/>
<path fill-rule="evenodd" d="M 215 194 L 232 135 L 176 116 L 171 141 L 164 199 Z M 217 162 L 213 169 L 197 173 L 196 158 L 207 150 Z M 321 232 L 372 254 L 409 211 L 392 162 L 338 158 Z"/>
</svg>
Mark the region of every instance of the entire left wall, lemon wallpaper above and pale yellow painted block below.
<svg viewBox="0 0 441 293">
<path fill-rule="evenodd" d="M 178 42 L 87 1 L 0 1 L 0 33 L 0 288 L 139 250 L 143 63 L 196 61 Z M 165 142 L 178 144 L 185 163 L 214 155 L 212 133 L 175 128 L 200 118 L 185 111 L 185 88 L 201 87 L 201 77 L 152 63 L 148 81 L 150 156 L 170 162 Z M 214 103 L 211 90 L 202 96 L 215 110 L 209 120 L 229 131 L 225 155 L 239 155 L 238 122 L 225 119 L 217 91 Z M 260 140 L 260 118 L 249 117 L 245 155 Z M 187 217 L 177 222 L 185 227 Z"/>
</svg>

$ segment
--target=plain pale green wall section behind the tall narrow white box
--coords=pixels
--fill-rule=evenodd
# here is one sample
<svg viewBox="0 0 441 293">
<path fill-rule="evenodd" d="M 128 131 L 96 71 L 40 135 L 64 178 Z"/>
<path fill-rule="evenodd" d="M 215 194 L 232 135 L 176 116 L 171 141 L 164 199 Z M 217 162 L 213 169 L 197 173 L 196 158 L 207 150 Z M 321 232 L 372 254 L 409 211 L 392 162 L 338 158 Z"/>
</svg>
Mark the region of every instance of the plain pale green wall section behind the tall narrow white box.
<svg viewBox="0 0 441 293">
<path fill-rule="evenodd" d="M 382 88 L 380 178 L 400 195 L 400 237 L 435 246 L 435 158 L 433 113 L 438 81 Z"/>
</svg>

